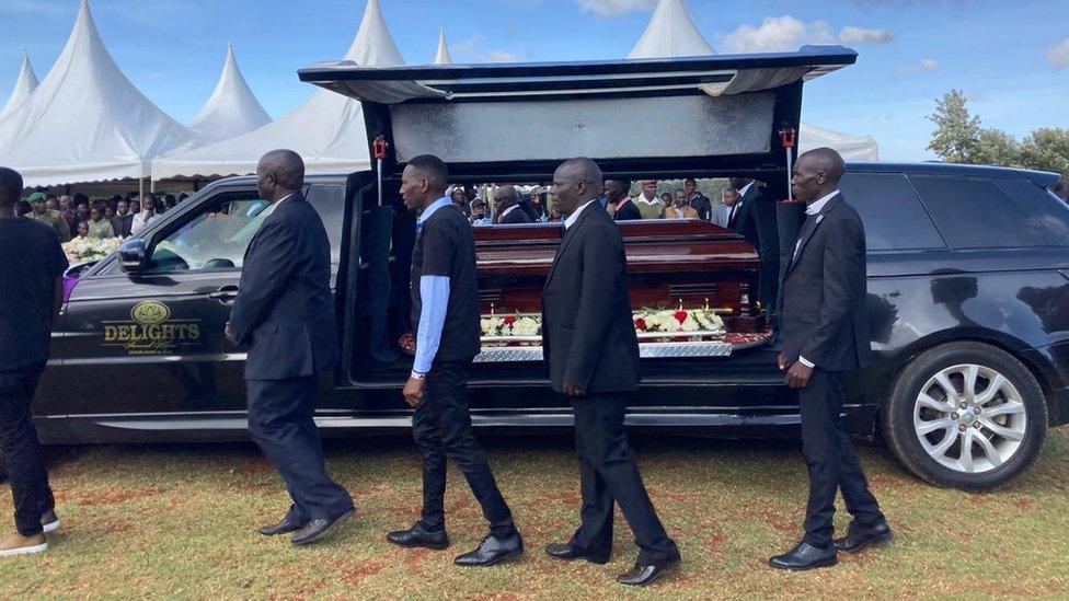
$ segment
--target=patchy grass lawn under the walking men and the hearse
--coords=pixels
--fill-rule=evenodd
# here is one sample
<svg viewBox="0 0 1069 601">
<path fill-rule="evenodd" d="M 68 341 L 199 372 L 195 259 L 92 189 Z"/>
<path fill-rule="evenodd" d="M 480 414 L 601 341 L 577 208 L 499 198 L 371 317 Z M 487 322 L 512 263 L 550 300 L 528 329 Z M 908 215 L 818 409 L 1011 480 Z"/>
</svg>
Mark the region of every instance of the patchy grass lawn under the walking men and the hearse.
<svg viewBox="0 0 1069 601">
<path fill-rule="evenodd" d="M 407 527 L 419 511 L 419 461 L 403 437 L 327 444 L 331 472 L 353 493 L 357 515 L 335 538 L 306 548 L 254 532 L 280 518 L 288 499 L 251 444 L 87 447 L 50 452 L 62 527 L 46 554 L 0 563 L 0 598 L 1069 594 L 1066 429 L 1050 432 L 1030 473 L 989 494 L 934 488 L 906 474 L 886 450 L 859 448 L 898 536 L 802 574 L 765 566 L 800 536 L 806 476 L 797 443 L 637 438 L 650 493 L 683 554 L 680 571 L 647 590 L 613 580 L 635 557 L 619 517 L 609 565 L 564 564 L 543 553 L 576 524 L 578 475 L 568 438 L 484 442 L 526 539 L 517 564 L 452 565 L 485 529 L 452 467 L 446 502 L 453 546 L 404 551 L 386 542 L 388 530 Z M 11 512 L 3 485 L 3 531 L 12 528 Z M 846 517 L 837 523 L 844 527 Z"/>
</svg>

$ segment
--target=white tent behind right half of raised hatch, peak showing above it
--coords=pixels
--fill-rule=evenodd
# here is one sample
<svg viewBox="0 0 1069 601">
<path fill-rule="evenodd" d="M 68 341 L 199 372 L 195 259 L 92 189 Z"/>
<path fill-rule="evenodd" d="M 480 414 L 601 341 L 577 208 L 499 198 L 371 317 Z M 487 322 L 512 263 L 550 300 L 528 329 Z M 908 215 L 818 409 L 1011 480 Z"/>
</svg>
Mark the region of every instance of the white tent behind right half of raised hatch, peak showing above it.
<svg viewBox="0 0 1069 601">
<path fill-rule="evenodd" d="M 659 0 L 646 31 L 628 58 L 658 58 L 716 54 L 702 36 L 682 0 Z M 848 161 L 876 161 L 880 151 L 871 136 L 851 136 L 803 123 L 798 151 L 830 147 Z"/>
</svg>

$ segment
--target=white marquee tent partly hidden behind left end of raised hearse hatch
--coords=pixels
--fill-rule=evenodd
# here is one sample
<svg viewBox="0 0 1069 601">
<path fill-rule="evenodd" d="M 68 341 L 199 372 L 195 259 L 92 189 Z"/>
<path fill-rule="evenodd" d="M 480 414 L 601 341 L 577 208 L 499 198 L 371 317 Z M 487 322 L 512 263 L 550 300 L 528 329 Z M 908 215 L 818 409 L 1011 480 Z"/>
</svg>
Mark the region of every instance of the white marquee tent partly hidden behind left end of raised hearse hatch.
<svg viewBox="0 0 1069 601">
<path fill-rule="evenodd" d="M 345 58 L 364 66 L 404 63 L 378 0 L 368 0 L 364 21 Z M 303 104 L 264 127 L 157 159 L 152 164 L 152 177 L 252 174 L 260 157 L 276 148 L 298 152 L 304 159 L 308 173 L 348 172 L 370 165 L 360 104 L 341 94 L 318 90 Z"/>
</svg>

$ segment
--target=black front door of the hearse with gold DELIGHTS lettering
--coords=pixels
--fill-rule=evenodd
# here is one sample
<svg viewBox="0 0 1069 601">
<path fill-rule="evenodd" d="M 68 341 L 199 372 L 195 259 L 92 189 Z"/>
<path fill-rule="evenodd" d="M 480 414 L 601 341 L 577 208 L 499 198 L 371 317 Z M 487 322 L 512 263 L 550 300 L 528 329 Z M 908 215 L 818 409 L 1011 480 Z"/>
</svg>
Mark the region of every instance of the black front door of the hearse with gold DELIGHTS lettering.
<svg viewBox="0 0 1069 601">
<path fill-rule="evenodd" d="M 145 273 L 126 274 L 111 257 L 78 281 L 57 323 L 62 366 L 53 374 L 76 437 L 79 427 L 114 434 L 179 415 L 243 414 L 244 352 L 223 327 L 245 247 L 269 210 L 255 189 L 220 188 L 143 235 Z"/>
</svg>

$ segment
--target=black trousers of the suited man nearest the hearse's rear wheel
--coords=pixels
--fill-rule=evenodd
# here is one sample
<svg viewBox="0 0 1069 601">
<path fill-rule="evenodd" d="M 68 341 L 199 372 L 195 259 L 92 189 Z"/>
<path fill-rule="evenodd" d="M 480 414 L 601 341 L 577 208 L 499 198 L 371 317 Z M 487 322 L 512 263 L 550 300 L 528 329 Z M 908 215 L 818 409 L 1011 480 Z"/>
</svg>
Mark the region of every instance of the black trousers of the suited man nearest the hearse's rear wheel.
<svg viewBox="0 0 1069 601">
<path fill-rule="evenodd" d="M 831 544 L 839 489 L 847 511 L 853 516 L 851 529 L 865 530 L 885 521 L 842 425 L 842 375 L 820 368 L 815 368 L 808 385 L 798 390 L 802 452 L 809 469 L 805 542 L 823 548 Z"/>
</svg>

